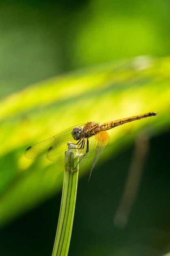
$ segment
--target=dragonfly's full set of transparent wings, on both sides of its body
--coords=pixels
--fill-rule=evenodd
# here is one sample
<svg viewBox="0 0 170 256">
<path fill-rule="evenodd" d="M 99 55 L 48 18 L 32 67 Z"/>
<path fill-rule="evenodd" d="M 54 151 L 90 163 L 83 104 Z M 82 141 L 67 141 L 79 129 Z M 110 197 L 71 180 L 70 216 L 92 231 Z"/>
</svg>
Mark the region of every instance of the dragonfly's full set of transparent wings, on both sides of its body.
<svg viewBox="0 0 170 256">
<path fill-rule="evenodd" d="M 77 126 L 83 127 L 84 125 L 85 124 L 79 124 Z M 70 141 L 72 144 L 78 143 L 78 141 L 72 137 L 72 130 L 77 126 L 73 126 L 72 128 L 69 128 L 68 130 L 65 130 L 49 139 L 45 139 L 28 147 L 25 151 L 25 156 L 29 159 L 47 158 L 50 161 L 57 161 L 59 159 L 59 154 L 68 149 L 68 141 Z M 86 154 L 87 139 L 82 139 L 82 141 L 80 141 L 77 145 L 78 153 L 82 155 L 79 157 L 80 166 L 85 164 L 89 157 L 94 156 L 92 165 L 93 169 L 108 142 L 109 134 L 106 131 L 99 132 L 97 135 L 89 137 L 89 151 Z"/>
</svg>

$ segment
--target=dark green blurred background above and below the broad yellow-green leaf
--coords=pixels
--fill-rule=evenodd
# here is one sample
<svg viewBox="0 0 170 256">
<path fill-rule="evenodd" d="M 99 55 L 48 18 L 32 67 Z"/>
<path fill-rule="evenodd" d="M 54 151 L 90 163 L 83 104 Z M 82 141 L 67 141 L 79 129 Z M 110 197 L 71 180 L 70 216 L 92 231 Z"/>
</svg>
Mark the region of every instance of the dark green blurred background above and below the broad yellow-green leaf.
<svg viewBox="0 0 170 256">
<path fill-rule="evenodd" d="M 2 0 L 0 98 L 79 68 L 168 56 L 169 10 L 169 0 Z M 161 256 L 170 250 L 168 139 L 164 132 L 150 140 L 137 199 L 123 229 L 113 225 L 113 218 L 134 145 L 96 167 L 90 182 L 88 175 L 80 180 L 70 256 Z M 60 202 L 61 194 L 1 229 L 0 255 L 51 255 Z"/>
</svg>

